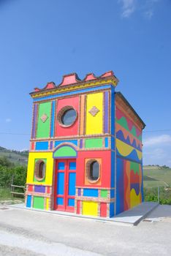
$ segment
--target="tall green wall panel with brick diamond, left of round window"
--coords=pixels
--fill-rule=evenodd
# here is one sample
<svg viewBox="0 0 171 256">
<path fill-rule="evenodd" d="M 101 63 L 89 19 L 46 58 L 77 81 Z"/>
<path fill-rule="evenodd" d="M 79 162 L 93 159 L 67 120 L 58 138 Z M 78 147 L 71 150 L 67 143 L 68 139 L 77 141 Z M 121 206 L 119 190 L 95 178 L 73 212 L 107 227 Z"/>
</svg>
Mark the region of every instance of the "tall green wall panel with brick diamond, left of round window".
<svg viewBox="0 0 171 256">
<path fill-rule="evenodd" d="M 37 119 L 37 138 L 49 138 L 50 137 L 50 113 L 51 102 L 45 102 L 39 104 L 39 113 Z M 42 121 L 43 115 L 47 116 L 46 121 Z"/>
</svg>

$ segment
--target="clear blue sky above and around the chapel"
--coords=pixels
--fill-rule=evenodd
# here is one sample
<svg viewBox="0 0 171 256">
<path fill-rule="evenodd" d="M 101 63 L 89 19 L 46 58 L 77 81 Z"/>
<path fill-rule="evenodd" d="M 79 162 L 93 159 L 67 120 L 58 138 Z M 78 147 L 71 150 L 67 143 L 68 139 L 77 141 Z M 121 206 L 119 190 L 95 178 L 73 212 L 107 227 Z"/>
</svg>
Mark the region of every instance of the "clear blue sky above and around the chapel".
<svg viewBox="0 0 171 256">
<path fill-rule="evenodd" d="M 0 146 L 28 148 L 34 87 L 113 69 L 146 124 L 144 164 L 171 166 L 170 13 L 170 0 L 0 0 Z"/>
</svg>

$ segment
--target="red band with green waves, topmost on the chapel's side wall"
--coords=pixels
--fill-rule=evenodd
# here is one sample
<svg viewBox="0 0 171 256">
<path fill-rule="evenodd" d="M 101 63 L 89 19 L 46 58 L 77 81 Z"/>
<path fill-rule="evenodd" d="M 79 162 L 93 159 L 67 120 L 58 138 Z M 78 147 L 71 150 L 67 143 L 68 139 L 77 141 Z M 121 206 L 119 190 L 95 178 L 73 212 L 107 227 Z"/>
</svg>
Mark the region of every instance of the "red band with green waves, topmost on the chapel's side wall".
<svg viewBox="0 0 171 256">
<path fill-rule="evenodd" d="M 116 123 L 120 124 L 121 127 L 129 131 L 138 140 L 142 140 L 142 132 L 140 131 L 140 129 L 135 127 L 133 122 L 129 120 L 129 118 L 126 115 L 124 115 L 118 108 L 116 108 L 115 118 Z"/>
</svg>

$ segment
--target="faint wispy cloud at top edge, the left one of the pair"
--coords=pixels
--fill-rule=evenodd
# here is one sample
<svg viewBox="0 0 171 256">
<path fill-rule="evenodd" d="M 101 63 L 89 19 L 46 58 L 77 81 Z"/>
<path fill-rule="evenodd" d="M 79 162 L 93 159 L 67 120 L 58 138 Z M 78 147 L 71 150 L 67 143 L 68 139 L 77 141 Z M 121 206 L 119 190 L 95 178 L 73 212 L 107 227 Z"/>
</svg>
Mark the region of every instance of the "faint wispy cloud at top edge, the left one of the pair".
<svg viewBox="0 0 171 256">
<path fill-rule="evenodd" d="M 118 0 L 122 4 L 122 18 L 129 18 L 135 10 L 135 0 Z"/>
</svg>

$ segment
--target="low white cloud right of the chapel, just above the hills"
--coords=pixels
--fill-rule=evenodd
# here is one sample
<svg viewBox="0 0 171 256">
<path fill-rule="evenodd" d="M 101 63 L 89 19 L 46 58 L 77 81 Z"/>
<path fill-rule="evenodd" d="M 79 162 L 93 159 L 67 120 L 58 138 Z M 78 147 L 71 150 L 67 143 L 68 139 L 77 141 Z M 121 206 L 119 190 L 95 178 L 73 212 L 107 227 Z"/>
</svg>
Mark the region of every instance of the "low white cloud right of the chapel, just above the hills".
<svg viewBox="0 0 171 256">
<path fill-rule="evenodd" d="M 164 146 L 164 145 L 171 145 L 171 136 L 170 135 L 159 135 L 155 137 L 151 137 L 145 139 L 143 142 L 143 146 Z"/>
</svg>

